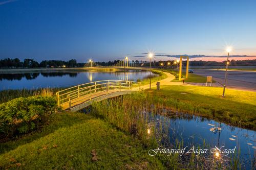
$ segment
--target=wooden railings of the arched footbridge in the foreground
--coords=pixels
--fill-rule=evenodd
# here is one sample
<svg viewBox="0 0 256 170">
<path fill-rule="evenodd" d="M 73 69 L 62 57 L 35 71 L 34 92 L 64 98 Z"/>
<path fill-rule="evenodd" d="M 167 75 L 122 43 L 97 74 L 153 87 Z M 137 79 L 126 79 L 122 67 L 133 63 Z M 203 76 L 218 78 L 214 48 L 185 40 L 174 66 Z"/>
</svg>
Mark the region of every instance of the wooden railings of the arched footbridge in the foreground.
<svg viewBox="0 0 256 170">
<path fill-rule="evenodd" d="M 132 90 L 132 88 L 135 87 L 139 87 L 140 89 L 140 85 L 140 82 L 124 80 L 102 80 L 77 85 L 56 92 L 58 106 L 69 103 L 69 106 L 71 107 L 74 100 L 75 102 L 84 100 L 85 98 L 89 98 L 91 100 L 94 94 L 103 92 L 108 94 L 111 90 Z"/>
</svg>

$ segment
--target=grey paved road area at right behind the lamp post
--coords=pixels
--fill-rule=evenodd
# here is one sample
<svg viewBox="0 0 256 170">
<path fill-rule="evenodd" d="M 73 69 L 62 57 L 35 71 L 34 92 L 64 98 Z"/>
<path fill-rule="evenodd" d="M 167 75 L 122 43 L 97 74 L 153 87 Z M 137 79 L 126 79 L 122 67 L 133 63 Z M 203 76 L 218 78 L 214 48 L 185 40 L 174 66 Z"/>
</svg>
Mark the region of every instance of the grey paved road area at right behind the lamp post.
<svg viewBox="0 0 256 170">
<path fill-rule="evenodd" d="M 194 69 L 194 73 L 201 76 L 212 76 L 212 78 L 224 84 L 225 70 Z M 229 70 L 227 74 L 227 88 L 256 91 L 256 71 Z"/>
</svg>

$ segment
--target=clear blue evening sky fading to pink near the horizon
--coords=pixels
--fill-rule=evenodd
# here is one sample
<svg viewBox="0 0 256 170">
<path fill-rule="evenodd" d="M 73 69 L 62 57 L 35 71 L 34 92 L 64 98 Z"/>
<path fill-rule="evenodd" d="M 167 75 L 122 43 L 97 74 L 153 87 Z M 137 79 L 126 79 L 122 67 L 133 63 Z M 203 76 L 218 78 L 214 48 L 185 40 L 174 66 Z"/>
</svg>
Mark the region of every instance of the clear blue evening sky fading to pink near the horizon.
<svg viewBox="0 0 256 170">
<path fill-rule="evenodd" d="M 255 7 L 255 0 L 0 0 L 0 59 L 144 61 L 148 52 L 162 54 L 155 60 L 225 56 L 226 46 L 256 59 Z"/>
</svg>

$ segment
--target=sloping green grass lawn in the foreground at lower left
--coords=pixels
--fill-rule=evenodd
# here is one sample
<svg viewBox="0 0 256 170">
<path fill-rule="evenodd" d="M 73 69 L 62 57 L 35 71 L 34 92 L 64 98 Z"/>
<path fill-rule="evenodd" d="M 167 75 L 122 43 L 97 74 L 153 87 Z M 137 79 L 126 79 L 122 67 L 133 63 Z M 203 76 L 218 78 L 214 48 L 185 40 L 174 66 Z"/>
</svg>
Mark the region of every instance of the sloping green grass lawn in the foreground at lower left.
<svg viewBox="0 0 256 170">
<path fill-rule="evenodd" d="M 0 146 L 0 169 L 163 168 L 138 139 L 82 113 L 57 114 L 40 132 Z"/>
</svg>

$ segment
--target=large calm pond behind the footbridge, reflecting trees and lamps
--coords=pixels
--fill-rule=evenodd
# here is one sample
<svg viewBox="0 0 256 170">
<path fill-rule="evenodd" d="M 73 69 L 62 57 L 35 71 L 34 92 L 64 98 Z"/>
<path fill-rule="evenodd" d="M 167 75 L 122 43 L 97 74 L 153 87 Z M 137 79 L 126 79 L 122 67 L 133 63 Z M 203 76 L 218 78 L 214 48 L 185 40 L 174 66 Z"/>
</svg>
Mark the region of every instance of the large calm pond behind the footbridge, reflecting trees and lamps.
<svg viewBox="0 0 256 170">
<path fill-rule="evenodd" d="M 0 90 L 35 89 L 42 87 L 69 87 L 99 80 L 133 80 L 150 75 L 148 71 L 41 71 L 19 74 L 0 74 Z"/>
</svg>

